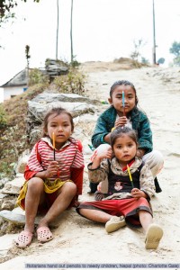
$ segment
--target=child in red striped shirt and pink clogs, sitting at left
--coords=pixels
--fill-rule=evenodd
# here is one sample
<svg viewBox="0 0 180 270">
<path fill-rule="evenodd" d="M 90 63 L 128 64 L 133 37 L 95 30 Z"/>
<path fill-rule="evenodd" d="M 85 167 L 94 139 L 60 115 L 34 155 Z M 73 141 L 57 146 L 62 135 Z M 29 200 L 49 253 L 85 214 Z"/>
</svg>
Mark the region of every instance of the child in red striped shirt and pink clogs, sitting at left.
<svg viewBox="0 0 180 270">
<path fill-rule="evenodd" d="M 49 223 L 69 205 L 77 206 L 78 195 L 82 194 L 84 158 L 80 141 L 71 137 L 72 115 L 63 108 L 51 109 L 44 118 L 43 130 L 43 137 L 31 150 L 24 172 L 26 182 L 17 200 L 26 220 L 15 241 L 17 247 L 31 244 L 38 211 L 46 212 L 37 229 L 38 240 L 51 240 Z"/>
</svg>

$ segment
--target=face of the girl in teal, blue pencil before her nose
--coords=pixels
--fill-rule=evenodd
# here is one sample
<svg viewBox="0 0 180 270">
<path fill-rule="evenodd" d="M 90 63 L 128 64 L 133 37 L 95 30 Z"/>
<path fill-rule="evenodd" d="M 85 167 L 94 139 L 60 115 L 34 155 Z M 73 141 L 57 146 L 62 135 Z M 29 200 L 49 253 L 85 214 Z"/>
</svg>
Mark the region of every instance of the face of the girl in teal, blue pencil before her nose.
<svg viewBox="0 0 180 270">
<path fill-rule="evenodd" d="M 130 112 L 136 104 L 135 91 L 130 85 L 118 85 L 112 92 L 109 103 L 113 105 L 119 115 L 123 114 L 122 91 L 124 92 L 125 112 Z"/>
</svg>

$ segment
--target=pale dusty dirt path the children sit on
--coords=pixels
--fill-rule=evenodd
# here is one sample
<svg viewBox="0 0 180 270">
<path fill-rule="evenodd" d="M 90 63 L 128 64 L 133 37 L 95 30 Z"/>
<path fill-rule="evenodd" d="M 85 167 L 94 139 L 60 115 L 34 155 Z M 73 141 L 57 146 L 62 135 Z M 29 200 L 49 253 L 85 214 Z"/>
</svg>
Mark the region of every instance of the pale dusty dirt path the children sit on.
<svg viewBox="0 0 180 270">
<path fill-rule="evenodd" d="M 154 148 L 165 157 L 158 180 L 163 189 L 152 199 L 154 219 L 164 229 L 164 238 L 156 251 L 144 248 L 142 230 L 120 229 L 110 235 L 96 224 L 68 211 L 60 219 L 55 238 L 45 245 L 33 241 L 26 250 L 11 248 L 1 269 L 24 269 L 25 264 L 175 264 L 180 254 L 180 81 L 178 68 L 142 68 L 89 73 L 87 94 L 107 100 L 112 83 L 130 80 L 137 89 L 140 107 L 147 112 L 153 130 Z M 104 110 L 102 105 L 101 110 Z M 86 158 L 86 163 L 87 163 Z M 85 188 L 81 201 L 92 200 Z M 43 269 L 43 268 L 42 268 Z M 58 267 L 58 269 L 64 269 Z M 153 267 L 151 268 L 153 269 Z"/>
</svg>

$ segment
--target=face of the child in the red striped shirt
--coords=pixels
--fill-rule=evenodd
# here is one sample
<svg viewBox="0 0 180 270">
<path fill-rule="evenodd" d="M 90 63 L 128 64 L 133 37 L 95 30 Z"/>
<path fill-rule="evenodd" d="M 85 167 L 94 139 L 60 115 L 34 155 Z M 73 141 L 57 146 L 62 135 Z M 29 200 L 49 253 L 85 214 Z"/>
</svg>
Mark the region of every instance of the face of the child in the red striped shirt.
<svg viewBox="0 0 180 270">
<path fill-rule="evenodd" d="M 56 115 L 55 113 L 49 116 L 48 119 L 48 135 L 52 140 L 53 132 L 55 135 L 55 146 L 60 148 L 64 145 L 67 139 L 72 134 L 72 126 L 67 113 Z"/>
</svg>

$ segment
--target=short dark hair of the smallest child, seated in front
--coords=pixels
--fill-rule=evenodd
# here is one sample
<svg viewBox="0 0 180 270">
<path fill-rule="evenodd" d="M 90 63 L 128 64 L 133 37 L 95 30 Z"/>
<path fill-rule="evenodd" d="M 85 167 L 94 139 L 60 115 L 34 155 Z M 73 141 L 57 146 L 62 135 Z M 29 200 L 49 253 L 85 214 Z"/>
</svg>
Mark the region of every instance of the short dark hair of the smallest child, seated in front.
<svg viewBox="0 0 180 270">
<path fill-rule="evenodd" d="M 136 145 L 138 146 L 138 138 L 135 130 L 131 130 L 128 127 L 118 127 L 117 129 L 112 131 L 111 137 L 110 137 L 110 144 L 113 148 L 113 145 L 116 141 L 116 139 L 122 137 L 124 134 L 128 135 L 130 139 L 132 139 Z"/>
</svg>

